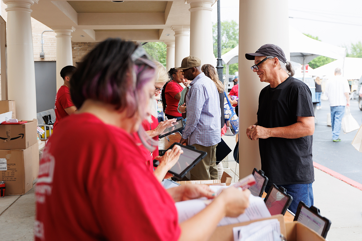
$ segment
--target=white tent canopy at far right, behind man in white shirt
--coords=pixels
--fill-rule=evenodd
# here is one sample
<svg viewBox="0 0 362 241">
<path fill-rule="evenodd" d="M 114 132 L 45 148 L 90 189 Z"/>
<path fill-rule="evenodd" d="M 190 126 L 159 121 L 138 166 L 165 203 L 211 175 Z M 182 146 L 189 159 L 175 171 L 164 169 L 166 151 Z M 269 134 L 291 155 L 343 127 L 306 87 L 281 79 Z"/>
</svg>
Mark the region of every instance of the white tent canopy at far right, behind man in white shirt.
<svg viewBox="0 0 362 241">
<path fill-rule="evenodd" d="M 346 57 L 343 67 L 343 59 L 338 59 L 329 64 L 325 64 L 316 69 L 313 69 L 313 75 L 315 76 L 334 76 L 334 69 L 341 68 L 343 76 L 347 79 L 359 79 L 362 76 L 362 58 L 350 58 Z"/>
</svg>

